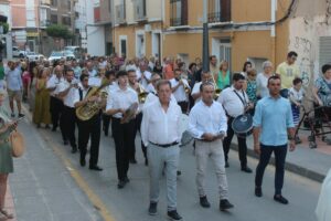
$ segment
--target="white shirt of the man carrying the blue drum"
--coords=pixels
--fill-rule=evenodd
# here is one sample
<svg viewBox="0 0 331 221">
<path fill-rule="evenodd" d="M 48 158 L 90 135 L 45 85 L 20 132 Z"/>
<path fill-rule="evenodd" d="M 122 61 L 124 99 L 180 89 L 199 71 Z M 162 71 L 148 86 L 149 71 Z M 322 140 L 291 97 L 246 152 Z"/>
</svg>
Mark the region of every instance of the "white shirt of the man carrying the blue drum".
<svg viewBox="0 0 331 221">
<path fill-rule="evenodd" d="M 243 101 L 246 101 L 247 104 L 249 103 L 248 96 L 243 90 L 237 91 L 233 86 L 223 90 L 217 102 L 223 105 L 226 114 L 231 117 L 237 117 L 245 112 L 245 106 L 235 91 Z"/>
</svg>

